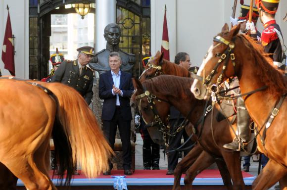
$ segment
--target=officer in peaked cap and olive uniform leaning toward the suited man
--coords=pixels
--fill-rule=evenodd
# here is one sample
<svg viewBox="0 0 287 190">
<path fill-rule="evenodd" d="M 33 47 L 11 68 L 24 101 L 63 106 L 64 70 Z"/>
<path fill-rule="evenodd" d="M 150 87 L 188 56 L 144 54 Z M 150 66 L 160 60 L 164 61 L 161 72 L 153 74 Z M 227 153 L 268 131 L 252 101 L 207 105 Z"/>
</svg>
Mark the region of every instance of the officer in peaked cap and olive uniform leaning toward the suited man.
<svg viewBox="0 0 287 190">
<path fill-rule="evenodd" d="M 86 100 L 88 105 L 93 97 L 94 71 L 86 65 L 94 56 L 94 47 L 80 47 L 78 59 L 64 60 L 55 71 L 51 82 L 60 82 L 76 89 Z"/>
</svg>

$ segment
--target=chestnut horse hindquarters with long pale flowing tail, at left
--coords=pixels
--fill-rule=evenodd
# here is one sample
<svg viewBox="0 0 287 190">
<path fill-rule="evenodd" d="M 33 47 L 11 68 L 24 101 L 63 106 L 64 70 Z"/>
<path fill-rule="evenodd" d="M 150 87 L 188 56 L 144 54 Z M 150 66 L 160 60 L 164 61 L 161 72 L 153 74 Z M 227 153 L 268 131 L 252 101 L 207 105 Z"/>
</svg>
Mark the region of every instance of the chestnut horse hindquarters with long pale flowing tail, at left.
<svg viewBox="0 0 287 190">
<path fill-rule="evenodd" d="M 74 89 L 2 77 L 0 96 L 0 162 L 27 189 L 56 190 L 48 176 L 51 135 L 60 184 L 64 172 L 65 185 L 70 184 L 76 160 L 88 177 L 108 169 L 112 150 L 93 112 Z"/>
</svg>

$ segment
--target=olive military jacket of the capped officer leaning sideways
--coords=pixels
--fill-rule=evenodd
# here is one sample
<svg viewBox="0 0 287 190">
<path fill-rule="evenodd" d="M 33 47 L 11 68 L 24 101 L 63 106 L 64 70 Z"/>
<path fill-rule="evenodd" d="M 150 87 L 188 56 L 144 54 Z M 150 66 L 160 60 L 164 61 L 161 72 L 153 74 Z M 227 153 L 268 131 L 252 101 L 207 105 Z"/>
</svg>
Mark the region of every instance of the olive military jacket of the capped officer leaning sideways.
<svg viewBox="0 0 287 190">
<path fill-rule="evenodd" d="M 78 59 L 74 61 L 64 60 L 51 80 L 51 82 L 60 82 L 73 87 L 85 98 L 88 104 L 91 103 L 93 97 L 93 81 L 94 71 L 87 66 L 80 76 Z"/>
</svg>

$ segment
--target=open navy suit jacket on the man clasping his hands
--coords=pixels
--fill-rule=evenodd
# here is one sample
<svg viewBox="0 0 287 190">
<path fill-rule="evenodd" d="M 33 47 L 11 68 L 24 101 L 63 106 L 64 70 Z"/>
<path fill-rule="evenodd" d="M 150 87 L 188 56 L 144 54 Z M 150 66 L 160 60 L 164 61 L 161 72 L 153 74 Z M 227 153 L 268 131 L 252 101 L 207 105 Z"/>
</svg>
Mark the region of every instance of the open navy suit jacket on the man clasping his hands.
<svg viewBox="0 0 287 190">
<path fill-rule="evenodd" d="M 114 82 L 111 71 L 99 75 L 98 95 L 104 99 L 101 118 L 103 120 L 112 120 L 116 109 L 116 95 L 112 94 Z M 125 121 L 132 120 L 132 111 L 130 106 L 130 97 L 133 94 L 134 87 L 132 75 L 121 70 L 120 88 L 123 96 L 119 95 L 121 115 Z"/>
</svg>

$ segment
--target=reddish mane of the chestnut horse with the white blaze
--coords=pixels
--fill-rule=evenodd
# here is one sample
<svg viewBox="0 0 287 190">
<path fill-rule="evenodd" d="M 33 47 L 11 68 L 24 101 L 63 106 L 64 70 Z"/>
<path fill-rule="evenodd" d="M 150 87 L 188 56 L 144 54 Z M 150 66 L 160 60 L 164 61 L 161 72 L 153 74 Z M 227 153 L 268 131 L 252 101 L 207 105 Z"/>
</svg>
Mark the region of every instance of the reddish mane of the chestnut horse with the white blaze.
<svg viewBox="0 0 287 190">
<path fill-rule="evenodd" d="M 252 53 L 254 57 L 254 66 L 256 75 L 266 86 L 267 91 L 275 97 L 280 97 L 287 93 L 287 80 L 284 75 L 273 66 L 273 61 L 269 57 L 270 53 L 264 51 L 263 46 L 256 43 L 247 35 L 237 35 L 237 37 L 245 44 L 247 51 Z"/>
</svg>

